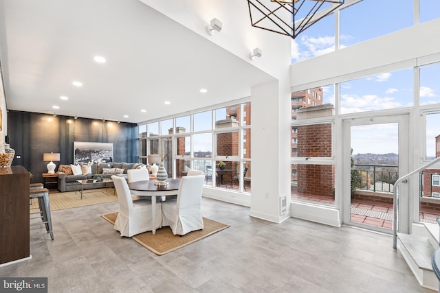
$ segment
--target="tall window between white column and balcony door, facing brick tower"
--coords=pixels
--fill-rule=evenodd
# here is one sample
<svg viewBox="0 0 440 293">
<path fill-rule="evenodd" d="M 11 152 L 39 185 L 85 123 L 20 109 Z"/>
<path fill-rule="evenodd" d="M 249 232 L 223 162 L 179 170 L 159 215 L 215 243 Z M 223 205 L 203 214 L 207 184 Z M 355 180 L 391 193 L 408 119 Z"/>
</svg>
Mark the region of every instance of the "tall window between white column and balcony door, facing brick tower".
<svg viewBox="0 0 440 293">
<path fill-rule="evenodd" d="M 291 198 L 335 205 L 334 86 L 292 93 Z"/>
</svg>

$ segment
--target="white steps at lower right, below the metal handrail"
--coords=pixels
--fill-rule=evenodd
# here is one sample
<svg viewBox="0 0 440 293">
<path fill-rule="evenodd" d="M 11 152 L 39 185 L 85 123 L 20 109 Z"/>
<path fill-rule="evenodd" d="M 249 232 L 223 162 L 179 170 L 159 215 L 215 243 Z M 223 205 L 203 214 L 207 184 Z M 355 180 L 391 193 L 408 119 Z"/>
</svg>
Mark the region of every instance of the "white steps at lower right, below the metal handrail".
<svg viewBox="0 0 440 293">
<path fill-rule="evenodd" d="M 412 224 L 412 234 L 397 233 L 397 249 L 408 263 L 423 288 L 439 289 L 439 281 L 432 270 L 432 254 L 439 248 L 440 228 L 437 224 Z"/>
</svg>

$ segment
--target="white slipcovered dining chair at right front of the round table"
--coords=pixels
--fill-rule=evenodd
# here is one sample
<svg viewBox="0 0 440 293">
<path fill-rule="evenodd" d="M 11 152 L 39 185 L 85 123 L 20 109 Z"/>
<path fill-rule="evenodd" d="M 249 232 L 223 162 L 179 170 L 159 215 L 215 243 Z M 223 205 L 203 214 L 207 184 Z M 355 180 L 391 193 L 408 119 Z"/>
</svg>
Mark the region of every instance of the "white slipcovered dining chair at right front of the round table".
<svg viewBox="0 0 440 293">
<path fill-rule="evenodd" d="M 162 202 L 162 226 L 170 226 L 174 235 L 203 229 L 201 194 L 204 175 L 181 178 L 177 200 Z"/>
</svg>

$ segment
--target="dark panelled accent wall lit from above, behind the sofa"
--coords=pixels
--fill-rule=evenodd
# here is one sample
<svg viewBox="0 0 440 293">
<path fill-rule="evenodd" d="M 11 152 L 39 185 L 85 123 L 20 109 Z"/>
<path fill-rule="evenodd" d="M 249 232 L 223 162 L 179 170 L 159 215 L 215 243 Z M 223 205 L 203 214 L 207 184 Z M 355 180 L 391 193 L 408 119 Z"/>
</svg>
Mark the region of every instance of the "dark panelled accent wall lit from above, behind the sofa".
<svg viewBox="0 0 440 293">
<path fill-rule="evenodd" d="M 137 125 L 131 123 L 8 111 L 7 141 L 16 156 L 12 165 L 28 169 L 34 175 L 34 183 L 43 182 L 41 173 L 47 172 L 43 153 L 60 153 L 61 161 L 54 162 L 57 169 L 60 164 L 73 163 L 74 141 L 113 143 L 114 162 L 137 163 L 137 133 Z"/>
</svg>

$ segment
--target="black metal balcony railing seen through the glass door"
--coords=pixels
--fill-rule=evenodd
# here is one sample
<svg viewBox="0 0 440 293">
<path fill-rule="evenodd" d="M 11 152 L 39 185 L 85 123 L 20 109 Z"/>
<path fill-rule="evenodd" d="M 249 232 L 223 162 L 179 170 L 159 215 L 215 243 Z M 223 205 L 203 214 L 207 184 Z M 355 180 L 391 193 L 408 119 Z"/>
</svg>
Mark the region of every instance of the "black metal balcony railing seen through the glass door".
<svg viewBox="0 0 440 293">
<path fill-rule="evenodd" d="M 393 193 L 399 178 L 399 166 L 355 164 L 351 169 L 355 189 Z"/>
</svg>

